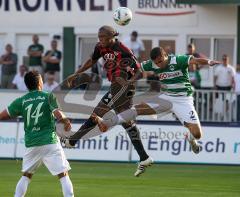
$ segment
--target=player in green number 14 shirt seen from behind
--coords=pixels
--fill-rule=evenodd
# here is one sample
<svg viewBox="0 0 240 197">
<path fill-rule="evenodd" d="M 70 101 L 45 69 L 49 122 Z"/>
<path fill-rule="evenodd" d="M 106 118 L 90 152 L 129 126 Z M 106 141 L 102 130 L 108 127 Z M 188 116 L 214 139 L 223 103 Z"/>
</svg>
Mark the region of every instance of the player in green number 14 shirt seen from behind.
<svg viewBox="0 0 240 197">
<path fill-rule="evenodd" d="M 63 123 L 65 131 L 71 129 L 71 123 L 59 110 L 56 97 L 42 91 L 43 81 L 40 74 L 35 71 L 28 72 L 24 81 L 29 92 L 14 100 L 0 113 L 0 120 L 17 116 L 24 119 L 26 152 L 22 163 L 23 176 L 16 186 L 15 197 L 25 196 L 35 170 L 42 163 L 52 175 L 58 176 L 63 195 L 72 197 L 73 186 L 68 176 L 71 168 L 56 135 L 54 117 Z"/>
</svg>

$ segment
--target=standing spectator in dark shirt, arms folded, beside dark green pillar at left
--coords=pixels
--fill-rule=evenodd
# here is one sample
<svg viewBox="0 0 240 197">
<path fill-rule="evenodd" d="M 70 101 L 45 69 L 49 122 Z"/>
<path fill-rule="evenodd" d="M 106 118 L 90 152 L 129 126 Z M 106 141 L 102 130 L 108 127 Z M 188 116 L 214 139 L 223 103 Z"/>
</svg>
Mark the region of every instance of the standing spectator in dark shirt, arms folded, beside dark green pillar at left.
<svg viewBox="0 0 240 197">
<path fill-rule="evenodd" d="M 52 40 L 51 50 L 48 50 L 43 57 L 43 61 L 46 63 L 45 72 L 54 72 L 55 80 L 60 81 L 60 62 L 62 59 L 62 53 L 57 49 L 57 41 Z M 47 78 L 47 76 L 45 76 Z"/>
</svg>

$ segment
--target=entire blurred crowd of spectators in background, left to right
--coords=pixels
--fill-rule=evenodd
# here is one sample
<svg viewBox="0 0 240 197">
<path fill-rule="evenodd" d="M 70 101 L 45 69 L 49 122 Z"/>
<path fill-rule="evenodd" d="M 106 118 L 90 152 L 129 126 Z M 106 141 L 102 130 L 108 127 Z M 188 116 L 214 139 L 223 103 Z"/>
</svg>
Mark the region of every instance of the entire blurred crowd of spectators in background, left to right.
<svg viewBox="0 0 240 197">
<path fill-rule="evenodd" d="M 148 58 L 145 52 L 145 46 L 138 37 L 138 32 L 133 31 L 129 37 L 122 40 L 122 42 L 132 50 L 139 62 Z M 44 90 L 52 91 L 53 89 L 60 89 L 60 63 L 62 59 L 62 52 L 58 50 L 57 40 L 52 40 L 50 49 L 46 52 L 44 46 L 40 43 L 38 35 L 32 36 L 32 44 L 28 47 L 27 65 L 18 65 L 18 55 L 14 53 L 11 44 L 5 46 L 5 53 L 0 54 L 0 87 L 2 89 L 18 89 L 26 91 L 24 84 L 24 75 L 27 71 L 36 70 L 43 76 Z M 169 55 L 174 55 L 174 51 L 169 45 L 162 46 Z M 187 45 L 186 54 L 194 57 L 204 57 L 201 52 L 196 51 L 193 43 Z M 240 65 L 236 67 L 229 64 L 228 54 L 222 54 L 222 64 L 214 68 L 214 90 L 223 90 L 235 92 L 236 105 L 240 108 Z M 93 81 L 99 81 L 99 77 L 104 76 L 102 69 L 103 63 L 99 61 L 91 70 Z M 191 65 L 189 66 L 189 78 L 195 89 L 204 89 L 201 87 L 201 72 L 204 66 Z M 18 68 L 18 70 L 17 70 Z M 96 78 L 96 76 L 98 76 Z M 160 91 L 160 82 L 158 76 L 154 74 L 146 74 L 147 83 L 151 91 Z M 206 88 L 205 88 L 206 89 Z M 208 88 L 209 89 L 209 88 Z M 216 95 L 218 97 L 219 95 Z M 240 111 L 240 110 L 239 110 Z M 240 112 L 238 113 L 238 120 L 240 120 Z"/>
</svg>

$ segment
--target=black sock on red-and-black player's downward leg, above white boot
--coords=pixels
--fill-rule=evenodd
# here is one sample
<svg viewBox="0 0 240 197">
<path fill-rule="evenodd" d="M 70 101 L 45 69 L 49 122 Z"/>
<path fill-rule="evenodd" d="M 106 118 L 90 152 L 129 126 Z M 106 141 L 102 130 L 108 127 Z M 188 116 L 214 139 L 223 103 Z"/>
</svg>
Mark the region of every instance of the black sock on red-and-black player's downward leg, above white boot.
<svg viewBox="0 0 240 197">
<path fill-rule="evenodd" d="M 136 125 L 130 126 L 130 125 L 123 124 L 122 126 L 126 129 L 128 135 L 131 139 L 131 142 L 140 157 L 140 161 L 146 160 L 149 156 L 143 147 L 140 132 L 139 132 L 138 128 L 136 127 Z"/>
</svg>

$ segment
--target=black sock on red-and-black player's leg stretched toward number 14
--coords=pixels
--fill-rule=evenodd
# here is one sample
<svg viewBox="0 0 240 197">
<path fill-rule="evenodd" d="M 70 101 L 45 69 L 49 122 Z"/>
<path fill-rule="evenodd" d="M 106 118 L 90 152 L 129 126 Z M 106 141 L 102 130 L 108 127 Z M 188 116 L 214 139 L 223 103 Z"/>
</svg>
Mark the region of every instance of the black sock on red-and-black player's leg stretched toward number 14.
<svg viewBox="0 0 240 197">
<path fill-rule="evenodd" d="M 91 131 L 96 125 L 97 124 L 93 122 L 90 117 L 86 122 L 84 122 L 80 129 L 69 138 L 69 144 L 74 146 L 79 139 L 81 139 L 84 135 Z"/>
</svg>

